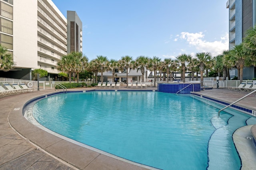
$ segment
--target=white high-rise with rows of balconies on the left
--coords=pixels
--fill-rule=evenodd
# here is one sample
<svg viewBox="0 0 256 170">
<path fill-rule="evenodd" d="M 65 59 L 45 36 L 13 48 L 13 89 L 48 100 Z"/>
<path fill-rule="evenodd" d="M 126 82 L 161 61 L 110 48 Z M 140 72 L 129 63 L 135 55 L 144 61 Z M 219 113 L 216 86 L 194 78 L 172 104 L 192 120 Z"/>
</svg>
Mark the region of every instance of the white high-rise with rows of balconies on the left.
<svg viewBox="0 0 256 170">
<path fill-rule="evenodd" d="M 1 44 L 13 53 L 16 68 L 0 72 L 0 77 L 31 80 L 36 68 L 48 71 L 41 80 L 55 80 L 57 63 L 67 55 L 72 42 L 67 18 L 75 18 L 79 25 L 79 50 L 82 51 L 82 22 L 76 12 L 67 18 L 58 10 L 52 0 L 0 0 L 1 2 Z M 4 12 L 3 12 L 4 11 Z M 12 15 L 13 14 L 13 15 Z M 74 15 L 74 16 L 73 16 Z M 80 22 L 79 22 L 80 21 Z M 11 26 L 9 26 L 11 25 Z M 2 38 L 3 37 L 3 38 Z M 3 41 L 2 41 L 3 39 Z M 75 40 L 76 41 L 76 40 Z M 70 47 L 69 47 L 70 46 Z"/>
</svg>

